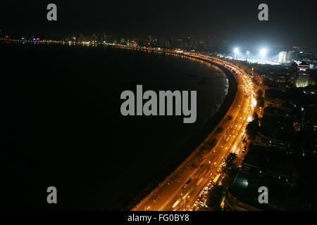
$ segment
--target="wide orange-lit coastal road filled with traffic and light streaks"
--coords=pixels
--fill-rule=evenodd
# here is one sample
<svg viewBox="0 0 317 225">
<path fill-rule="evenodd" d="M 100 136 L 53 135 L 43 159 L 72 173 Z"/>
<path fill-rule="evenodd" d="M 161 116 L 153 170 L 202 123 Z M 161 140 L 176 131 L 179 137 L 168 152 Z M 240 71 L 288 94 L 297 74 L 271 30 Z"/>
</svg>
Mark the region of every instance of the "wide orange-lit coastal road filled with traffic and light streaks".
<svg viewBox="0 0 317 225">
<path fill-rule="evenodd" d="M 205 56 L 195 57 L 206 60 Z M 229 63 L 225 64 L 229 65 Z M 244 94 L 251 89 L 249 86 L 251 83 L 244 78 L 242 73 L 237 72 L 238 75 L 235 77 L 238 87 L 235 100 L 219 124 L 219 127 L 223 127 L 223 131 L 217 133 L 215 129 L 211 132 L 197 150 L 189 155 L 185 162 L 175 169 L 154 191 L 133 207 L 132 211 L 192 210 L 192 205 L 199 197 L 199 193 L 215 176 L 225 157 L 230 152 L 237 153 L 238 157 L 241 157 L 242 140 L 245 136 L 244 130 L 247 126 L 247 120 L 253 113 L 253 107 L 251 107 L 252 96 Z M 232 120 L 228 119 L 229 116 L 232 116 Z M 208 148 L 210 141 L 213 139 L 217 139 L 218 143 L 210 153 L 200 157 L 201 160 L 199 160 L 199 149 Z M 198 168 L 192 167 L 193 162 L 198 164 Z M 191 179 L 190 182 L 188 182 L 189 179 Z"/>
</svg>

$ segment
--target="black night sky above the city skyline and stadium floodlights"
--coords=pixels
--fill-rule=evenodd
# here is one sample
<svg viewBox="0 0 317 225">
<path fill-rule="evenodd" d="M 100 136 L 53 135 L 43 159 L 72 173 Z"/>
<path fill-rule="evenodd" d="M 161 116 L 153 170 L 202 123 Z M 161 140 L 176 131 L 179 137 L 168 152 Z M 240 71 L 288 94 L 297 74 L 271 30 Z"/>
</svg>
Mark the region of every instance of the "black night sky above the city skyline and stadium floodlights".
<svg viewBox="0 0 317 225">
<path fill-rule="evenodd" d="M 58 21 L 46 20 L 46 6 Z M 269 21 L 258 20 L 259 4 Z M 125 37 L 226 39 L 232 44 L 317 46 L 316 1 L 6 1 L 0 29 L 12 33 L 106 32 Z"/>
</svg>

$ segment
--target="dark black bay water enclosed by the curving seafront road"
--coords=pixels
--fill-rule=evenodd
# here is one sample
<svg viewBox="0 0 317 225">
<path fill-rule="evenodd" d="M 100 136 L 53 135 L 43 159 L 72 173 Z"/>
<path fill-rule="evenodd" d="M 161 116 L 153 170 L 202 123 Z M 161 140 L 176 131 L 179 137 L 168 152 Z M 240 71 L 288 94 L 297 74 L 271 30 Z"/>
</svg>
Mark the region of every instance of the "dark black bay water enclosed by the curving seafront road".
<svg viewBox="0 0 317 225">
<path fill-rule="evenodd" d="M 120 210 L 170 172 L 225 98 L 218 68 L 104 46 L 1 44 L 1 208 Z M 197 122 L 123 117 L 120 94 L 197 90 Z M 46 203 L 56 186 L 58 204 Z"/>
</svg>

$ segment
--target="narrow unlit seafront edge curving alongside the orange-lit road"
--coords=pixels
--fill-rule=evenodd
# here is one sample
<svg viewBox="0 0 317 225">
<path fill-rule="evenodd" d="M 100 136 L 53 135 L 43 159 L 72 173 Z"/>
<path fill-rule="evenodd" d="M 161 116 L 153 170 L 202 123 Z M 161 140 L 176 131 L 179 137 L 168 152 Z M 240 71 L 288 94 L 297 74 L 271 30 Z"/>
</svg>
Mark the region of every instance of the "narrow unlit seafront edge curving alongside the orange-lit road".
<svg viewBox="0 0 317 225">
<path fill-rule="evenodd" d="M 137 48 L 127 48 L 132 50 L 143 50 L 143 49 L 137 49 Z M 154 50 L 155 52 L 156 50 Z M 160 51 L 156 51 L 160 52 Z M 164 53 L 164 52 L 163 52 Z M 235 100 L 235 96 L 237 94 L 237 80 L 235 76 L 232 74 L 228 68 L 225 68 L 223 65 L 220 65 L 218 63 L 214 63 L 211 60 L 205 60 L 202 58 L 198 58 L 196 56 L 188 56 L 181 53 L 173 53 L 178 56 L 187 56 L 189 58 L 195 58 L 198 60 L 205 61 L 206 63 L 211 63 L 212 65 L 215 65 L 216 67 L 220 68 L 222 70 L 226 77 L 228 78 L 228 94 L 225 96 L 225 99 L 223 100 L 223 103 L 221 103 L 220 108 L 218 111 L 209 118 L 209 120 L 204 124 L 204 126 L 195 134 L 192 139 L 187 141 L 186 148 L 184 149 L 185 154 L 181 155 L 177 161 L 170 162 L 169 167 L 167 167 L 164 171 L 159 172 L 159 174 L 154 174 L 154 177 L 156 179 L 151 182 L 151 184 L 147 184 L 146 188 L 142 190 L 142 192 L 139 192 L 137 196 L 133 195 L 131 196 L 132 190 L 128 191 L 127 194 L 131 196 L 129 203 L 125 201 L 123 203 L 124 207 L 121 210 L 132 210 L 135 205 L 140 203 L 144 198 L 149 195 L 149 193 L 153 192 L 160 184 L 162 184 L 168 176 L 173 173 L 182 163 L 187 160 L 193 153 L 196 152 L 197 148 L 201 143 L 204 142 L 204 140 L 218 127 L 218 124 L 220 124 L 221 120 L 225 117 L 225 115 L 228 113 L 228 110 L 230 109 L 233 101 Z"/>
</svg>

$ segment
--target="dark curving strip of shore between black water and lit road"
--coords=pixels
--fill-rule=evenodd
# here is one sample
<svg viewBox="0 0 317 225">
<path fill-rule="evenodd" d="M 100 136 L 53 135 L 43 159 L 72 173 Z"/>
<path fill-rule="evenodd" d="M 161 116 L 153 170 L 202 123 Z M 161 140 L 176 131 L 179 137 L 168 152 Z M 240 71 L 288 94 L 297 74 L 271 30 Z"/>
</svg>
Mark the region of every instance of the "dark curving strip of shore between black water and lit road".
<svg viewBox="0 0 317 225">
<path fill-rule="evenodd" d="M 130 48 L 127 48 L 130 49 Z M 135 50 L 135 49 L 130 49 Z M 144 50 L 144 49 L 137 49 Z M 148 51 L 148 50 L 147 50 Z M 155 51 L 154 52 L 159 52 Z M 173 160 L 167 159 L 164 162 L 161 162 L 161 165 L 166 165 L 166 167 L 158 168 L 155 170 L 155 173 L 151 178 L 145 179 L 144 182 L 139 182 L 130 188 L 130 190 L 123 190 L 122 198 L 117 200 L 117 203 L 113 204 L 113 207 L 105 208 L 104 210 L 131 210 L 132 207 L 137 205 L 140 200 L 144 199 L 151 191 L 156 190 L 163 181 L 166 181 L 171 173 L 175 172 L 179 167 L 184 166 L 184 162 L 187 161 L 187 158 L 190 158 L 192 154 L 197 153 L 197 148 L 204 143 L 204 140 L 209 135 L 213 134 L 218 124 L 223 120 L 223 117 L 228 114 L 228 110 L 232 105 L 232 102 L 235 99 L 237 89 L 237 81 L 235 80 L 235 76 L 232 75 L 230 70 L 219 65 L 218 63 L 213 63 L 209 60 L 204 60 L 202 58 L 196 56 L 185 55 L 182 53 L 171 53 L 171 52 L 163 52 L 174 56 L 187 56 L 188 58 L 195 58 L 197 60 L 205 61 L 206 63 L 211 63 L 211 65 L 215 65 L 217 68 L 225 74 L 225 77 L 228 79 L 228 91 L 223 99 L 223 102 L 220 104 L 216 113 L 214 113 L 208 120 L 201 126 L 201 128 L 197 131 L 196 134 L 193 134 L 190 139 L 185 140 L 184 147 L 176 146 L 175 149 L 182 150 L 182 152 L 178 155 L 174 153 L 174 156 L 171 158 Z M 233 85 L 232 85 L 233 84 Z M 236 84 L 236 85 L 234 85 Z M 138 194 L 139 193 L 139 194 Z M 136 197 L 136 198 L 135 198 Z"/>
</svg>

